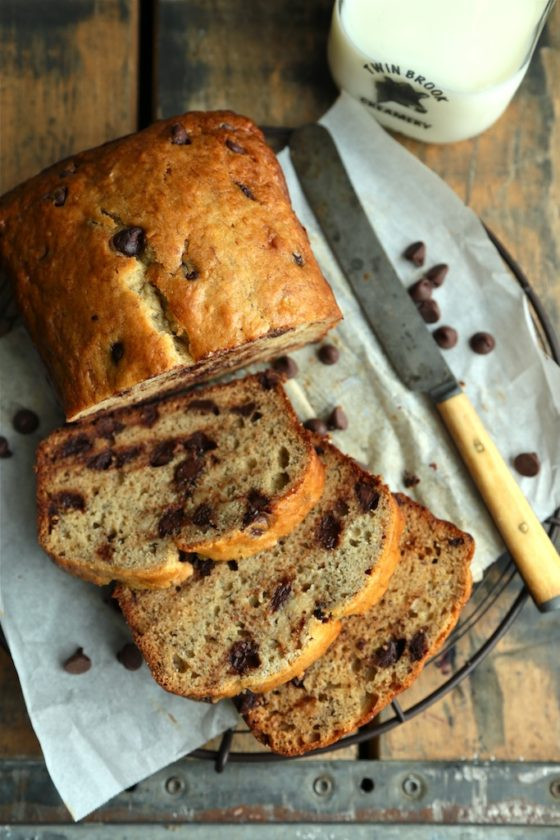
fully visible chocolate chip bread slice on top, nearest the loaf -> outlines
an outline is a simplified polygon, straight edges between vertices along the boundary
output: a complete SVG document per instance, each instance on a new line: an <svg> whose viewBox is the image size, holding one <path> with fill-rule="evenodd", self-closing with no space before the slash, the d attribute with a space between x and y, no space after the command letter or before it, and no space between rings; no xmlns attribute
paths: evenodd
<svg viewBox="0 0 560 840"><path fill-rule="evenodd" d="M189 552L255 554L319 498L324 469L272 371L66 426L37 454L39 540L68 571L165 587Z"/></svg>

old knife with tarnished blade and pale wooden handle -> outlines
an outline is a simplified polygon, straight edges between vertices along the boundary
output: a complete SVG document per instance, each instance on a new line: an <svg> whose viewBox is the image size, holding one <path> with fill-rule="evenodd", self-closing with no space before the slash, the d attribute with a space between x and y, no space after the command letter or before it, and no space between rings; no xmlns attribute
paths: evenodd
<svg viewBox="0 0 560 840"><path fill-rule="evenodd" d="M303 191L375 335L403 383L428 394L542 612L560 609L560 557L379 242L326 128L290 138Z"/></svg>

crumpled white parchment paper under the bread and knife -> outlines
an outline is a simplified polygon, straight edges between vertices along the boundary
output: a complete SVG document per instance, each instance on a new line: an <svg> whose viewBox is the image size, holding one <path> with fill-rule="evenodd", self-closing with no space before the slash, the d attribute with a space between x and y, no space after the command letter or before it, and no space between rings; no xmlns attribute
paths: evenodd
<svg viewBox="0 0 560 840"><path fill-rule="evenodd" d="M422 273L400 256L413 240L426 242L427 267L451 266L435 293L441 323L460 336L446 358L506 461L522 451L539 453L539 475L518 480L544 518L560 503L560 371L538 348L521 291L477 218L352 99L342 96L322 122L403 283ZM305 203L289 153L280 160L345 316L328 339L341 350L337 365L322 365L316 348L294 354L300 366L288 383L294 404L303 417L342 405L350 425L333 433L335 443L367 461L394 490L404 489L405 470L416 474L420 483L408 492L474 535L479 575L501 552L499 537L433 408L401 385L363 320ZM496 337L488 356L468 347L479 330ZM120 616L99 588L56 568L36 543L35 447L63 417L22 329L0 341L0 389L0 434L13 451L0 462L0 616L49 772L80 819L234 725L237 714L229 702L210 706L167 694L145 665L129 672L116 660L129 639ZM22 407L41 418L33 435L12 428ZM61 663L78 646L92 668L72 676Z"/></svg>

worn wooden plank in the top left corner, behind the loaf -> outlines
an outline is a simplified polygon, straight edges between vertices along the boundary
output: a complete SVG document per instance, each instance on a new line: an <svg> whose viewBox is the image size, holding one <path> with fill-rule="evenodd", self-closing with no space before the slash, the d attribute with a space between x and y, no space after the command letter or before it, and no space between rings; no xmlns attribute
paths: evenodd
<svg viewBox="0 0 560 840"><path fill-rule="evenodd" d="M3 0L0 193L136 128L139 0Z"/></svg>

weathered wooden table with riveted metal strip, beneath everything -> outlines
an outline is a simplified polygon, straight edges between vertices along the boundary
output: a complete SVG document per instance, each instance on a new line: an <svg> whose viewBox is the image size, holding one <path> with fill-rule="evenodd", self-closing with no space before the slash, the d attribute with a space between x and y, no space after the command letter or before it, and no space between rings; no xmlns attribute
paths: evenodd
<svg viewBox="0 0 560 840"><path fill-rule="evenodd" d="M331 6L331 0L3 0L0 193L61 157L185 110L231 108L267 127L315 120L337 95L325 58ZM521 89L496 125L447 146L398 138L498 235L558 332L559 82L557 5ZM487 621L470 631L472 650ZM336 838L365 837L366 823L384 823L384 837L408 836L394 825L401 822L415 823L409 831L420 838L482 837L476 828L482 823L485 837L558 836L550 827L560 824L559 643L560 616L543 617L527 602L468 679L359 754L236 764L219 776L209 763L183 762L100 809L79 836L158 838L165 825L189 822L199 823L189 829L193 836L247 837L249 825L228 825L222 834L209 823L255 821L259 837L283 836L282 821L314 823L308 837L325 836L326 823ZM480 764L487 760L502 763ZM443 791L455 809L441 807ZM64 827L68 819L46 778L13 665L0 649L0 823L11 824L10 837L40 836L45 823L57 824L57 837L78 836ZM120 827L102 825L113 822ZM441 823L457 825L440 834Z"/></svg>

